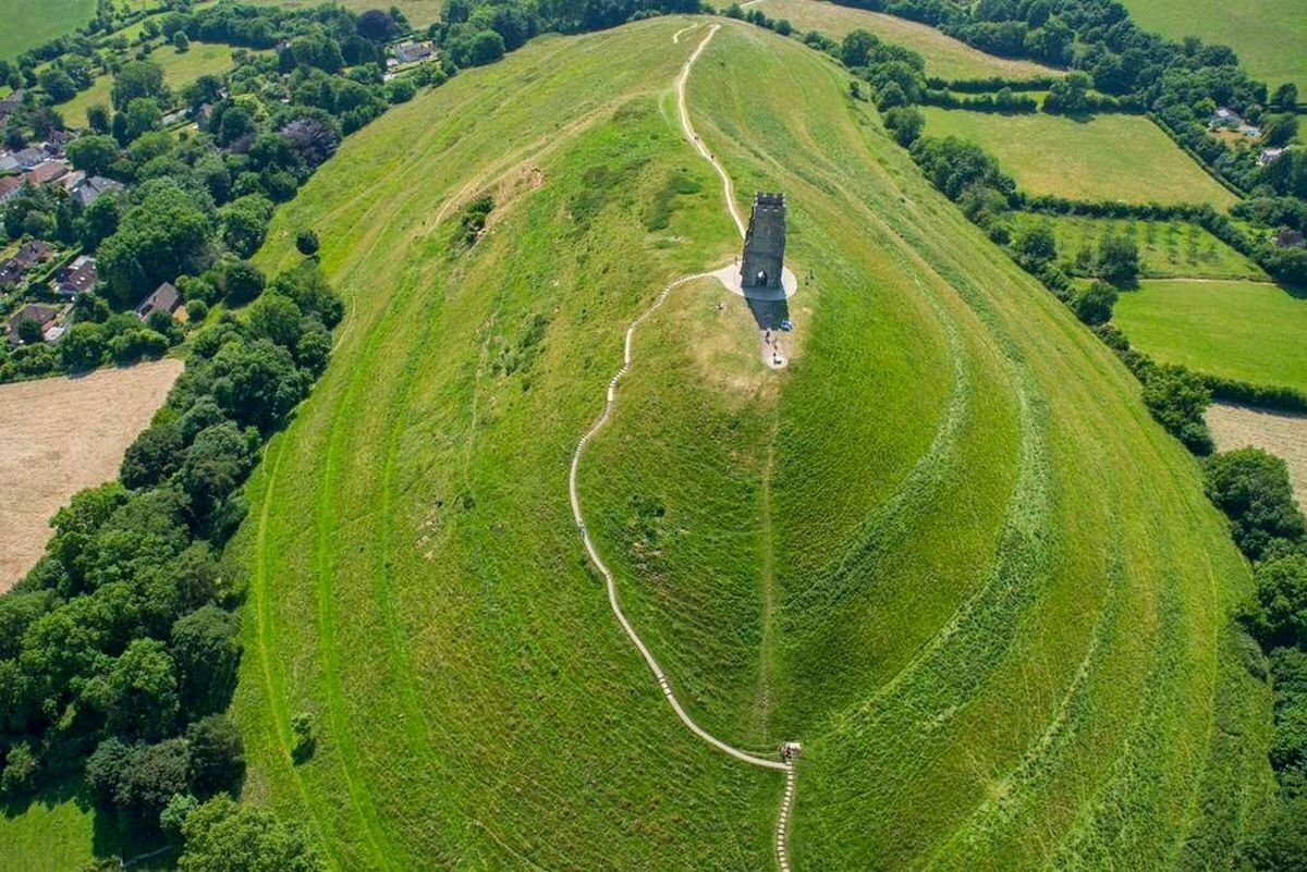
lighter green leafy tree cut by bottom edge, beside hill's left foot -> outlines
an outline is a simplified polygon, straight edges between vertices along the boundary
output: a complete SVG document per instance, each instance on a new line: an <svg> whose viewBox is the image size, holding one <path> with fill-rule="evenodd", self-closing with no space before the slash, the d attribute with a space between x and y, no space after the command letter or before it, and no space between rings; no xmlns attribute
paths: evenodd
<svg viewBox="0 0 1307 872"><path fill-rule="evenodd" d="M186 817L182 872L319 872L318 850L298 826L265 808L216 796Z"/></svg>

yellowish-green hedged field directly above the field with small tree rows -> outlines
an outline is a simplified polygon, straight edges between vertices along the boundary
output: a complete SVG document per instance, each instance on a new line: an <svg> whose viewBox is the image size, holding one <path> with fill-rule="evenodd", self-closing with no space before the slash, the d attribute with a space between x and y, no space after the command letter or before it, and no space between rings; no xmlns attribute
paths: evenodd
<svg viewBox="0 0 1307 872"><path fill-rule="evenodd" d="M1166 133L1137 115L996 115L923 107L927 136L984 146L1026 192L1072 200L1234 204Z"/></svg>

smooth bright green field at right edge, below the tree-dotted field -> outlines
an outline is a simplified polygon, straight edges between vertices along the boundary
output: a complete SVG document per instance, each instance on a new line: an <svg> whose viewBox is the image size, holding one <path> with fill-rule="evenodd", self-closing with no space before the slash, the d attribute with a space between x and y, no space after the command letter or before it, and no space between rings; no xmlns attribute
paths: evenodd
<svg viewBox="0 0 1307 872"><path fill-rule="evenodd" d="M1114 319L1159 360L1307 390L1307 300L1274 285L1144 281L1121 294Z"/></svg>

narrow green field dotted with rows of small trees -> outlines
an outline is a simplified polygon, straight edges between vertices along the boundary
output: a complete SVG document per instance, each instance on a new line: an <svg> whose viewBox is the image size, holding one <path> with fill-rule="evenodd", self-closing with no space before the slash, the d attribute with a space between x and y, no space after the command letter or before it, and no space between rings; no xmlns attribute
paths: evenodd
<svg viewBox="0 0 1307 872"><path fill-rule="evenodd" d="M1140 252L1140 266L1151 278L1248 278L1269 281L1251 260L1199 225L1184 221L1134 221L1082 215L1017 213L1013 231L1048 223L1057 238L1057 257L1074 264L1090 258L1104 236L1127 236Z"/></svg>

